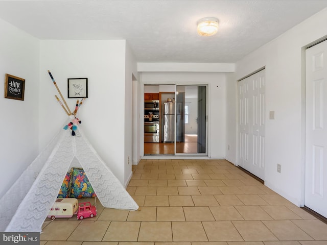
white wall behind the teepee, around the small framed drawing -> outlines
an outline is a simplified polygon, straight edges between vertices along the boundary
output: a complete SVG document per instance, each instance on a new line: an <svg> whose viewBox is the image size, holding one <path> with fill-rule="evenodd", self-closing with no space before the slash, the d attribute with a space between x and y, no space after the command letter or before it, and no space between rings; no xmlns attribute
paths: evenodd
<svg viewBox="0 0 327 245"><path fill-rule="evenodd" d="M80 127L122 184L125 184L125 47L125 40L42 40L39 69L40 150L62 129L67 118L54 97L58 93L47 70L52 72L71 110L76 99L67 99L67 78L88 78L88 99L77 114L82 121ZM128 79L131 80L131 75Z"/></svg>

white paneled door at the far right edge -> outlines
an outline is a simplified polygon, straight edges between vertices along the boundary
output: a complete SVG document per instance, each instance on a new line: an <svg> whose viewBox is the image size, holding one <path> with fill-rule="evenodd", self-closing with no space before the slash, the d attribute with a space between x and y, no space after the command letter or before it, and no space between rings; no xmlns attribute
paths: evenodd
<svg viewBox="0 0 327 245"><path fill-rule="evenodd" d="M306 50L305 205L327 217L327 41Z"/></svg>

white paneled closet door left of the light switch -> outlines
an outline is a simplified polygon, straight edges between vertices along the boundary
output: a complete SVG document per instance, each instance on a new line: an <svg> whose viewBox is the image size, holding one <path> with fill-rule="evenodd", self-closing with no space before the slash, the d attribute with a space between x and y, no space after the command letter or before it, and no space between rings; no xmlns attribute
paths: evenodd
<svg viewBox="0 0 327 245"><path fill-rule="evenodd" d="M265 179L265 69L239 81L239 166Z"/></svg>

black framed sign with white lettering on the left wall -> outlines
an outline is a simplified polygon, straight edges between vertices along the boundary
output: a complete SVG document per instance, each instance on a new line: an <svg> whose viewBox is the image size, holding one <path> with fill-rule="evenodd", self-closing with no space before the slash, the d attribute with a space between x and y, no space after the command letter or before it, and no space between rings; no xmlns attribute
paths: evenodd
<svg viewBox="0 0 327 245"><path fill-rule="evenodd" d="M5 98L24 101L25 79L6 74Z"/></svg>

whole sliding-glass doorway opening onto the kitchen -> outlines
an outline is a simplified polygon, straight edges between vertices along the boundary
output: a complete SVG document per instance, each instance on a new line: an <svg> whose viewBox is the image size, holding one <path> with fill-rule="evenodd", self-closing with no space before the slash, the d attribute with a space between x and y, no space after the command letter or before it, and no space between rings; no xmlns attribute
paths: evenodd
<svg viewBox="0 0 327 245"><path fill-rule="evenodd" d="M144 155L207 155L206 85L144 86Z"/></svg>

